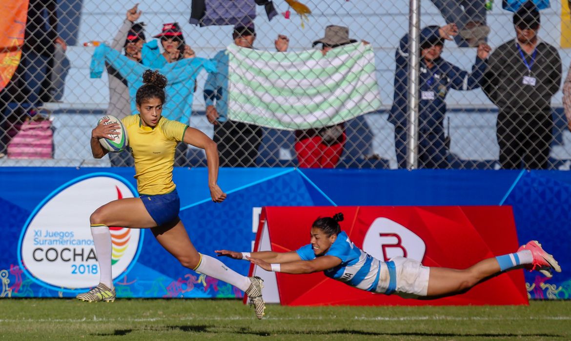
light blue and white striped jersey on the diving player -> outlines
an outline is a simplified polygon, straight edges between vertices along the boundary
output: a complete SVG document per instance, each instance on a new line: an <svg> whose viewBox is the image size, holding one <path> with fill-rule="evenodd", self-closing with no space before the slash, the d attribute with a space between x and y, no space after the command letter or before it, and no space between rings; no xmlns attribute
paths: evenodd
<svg viewBox="0 0 571 341"><path fill-rule="evenodd" d="M311 244L300 247L296 252L304 261L316 258ZM323 255L332 255L341 259L339 265L323 271L325 276L361 290L376 291L381 261L355 246L347 233L339 233L335 242Z"/></svg>

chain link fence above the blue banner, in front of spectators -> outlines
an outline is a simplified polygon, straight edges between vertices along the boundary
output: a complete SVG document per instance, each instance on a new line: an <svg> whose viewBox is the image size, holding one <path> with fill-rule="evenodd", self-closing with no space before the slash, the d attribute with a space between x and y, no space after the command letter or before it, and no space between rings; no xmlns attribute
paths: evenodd
<svg viewBox="0 0 571 341"><path fill-rule="evenodd" d="M224 167L406 167L409 2L301 2L15 2L27 23L11 12L25 41L0 47L22 50L0 97L0 165L132 165L93 159L90 132L136 113L153 68L170 82L163 116L212 137ZM421 2L419 168L570 168L569 4L532 3ZM175 165L206 160L179 144Z"/></svg>

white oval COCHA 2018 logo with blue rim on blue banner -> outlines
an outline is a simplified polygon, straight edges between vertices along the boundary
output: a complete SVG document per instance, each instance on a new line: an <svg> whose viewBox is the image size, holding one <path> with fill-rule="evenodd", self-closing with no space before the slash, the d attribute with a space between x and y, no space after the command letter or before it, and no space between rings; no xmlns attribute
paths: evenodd
<svg viewBox="0 0 571 341"><path fill-rule="evenodd" d="M56 290L88 288L99 282L99 265L89 217L99 206L135 197L136 190L112 173L75 178L54 190L30 214L19 240L22 269L39 285ZM143 231L109 226L112 273L135 263Z"/></svg>

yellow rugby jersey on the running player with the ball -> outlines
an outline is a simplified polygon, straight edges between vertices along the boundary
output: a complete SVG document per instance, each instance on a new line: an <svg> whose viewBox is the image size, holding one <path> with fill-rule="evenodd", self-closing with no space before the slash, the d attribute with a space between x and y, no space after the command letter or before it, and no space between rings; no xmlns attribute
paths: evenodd
<svg viewBox="0 0 571 341"><path fill-rule="evenodd" d="M139 194L156 195L172 192L172 167L176 143L182 141L188 125L160 117L154 128L144 127L139 115L122 120L129 147L135 159L135 178Z"/></svg>

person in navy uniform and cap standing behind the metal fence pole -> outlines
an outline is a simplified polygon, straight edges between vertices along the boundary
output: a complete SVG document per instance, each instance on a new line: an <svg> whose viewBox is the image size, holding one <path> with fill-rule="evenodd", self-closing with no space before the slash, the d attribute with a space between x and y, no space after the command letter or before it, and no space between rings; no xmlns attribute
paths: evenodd
<svg viewBox="0 0 571 341"><path fill-rule="evenodd" d="M478 46L472 72L462 70L442 58L444 40L458 34L455 24L427 26L420 32L419 76L419 168L447 168L448 148L444 132L445 98L448 91L480 87L490 47ZM408 108L408 34L396 49L395 95L388 120L395 125L395 152L399 168L407 167Z"/></svg>

